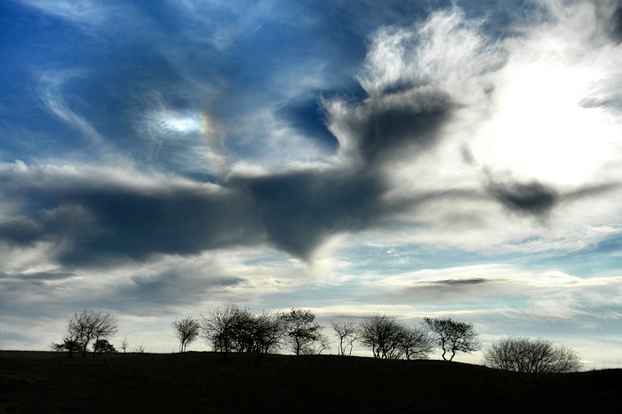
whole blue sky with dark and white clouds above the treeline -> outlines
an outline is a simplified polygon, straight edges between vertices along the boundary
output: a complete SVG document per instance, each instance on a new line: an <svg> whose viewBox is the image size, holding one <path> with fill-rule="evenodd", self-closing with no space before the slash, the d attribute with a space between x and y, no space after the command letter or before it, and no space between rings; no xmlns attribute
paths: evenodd
<svg viewBox="0 0 622 414"><path fill-rule="evenodd" d="M6 0L0 61L0 349L231 300L622 366L622 1Z"/></svg>

